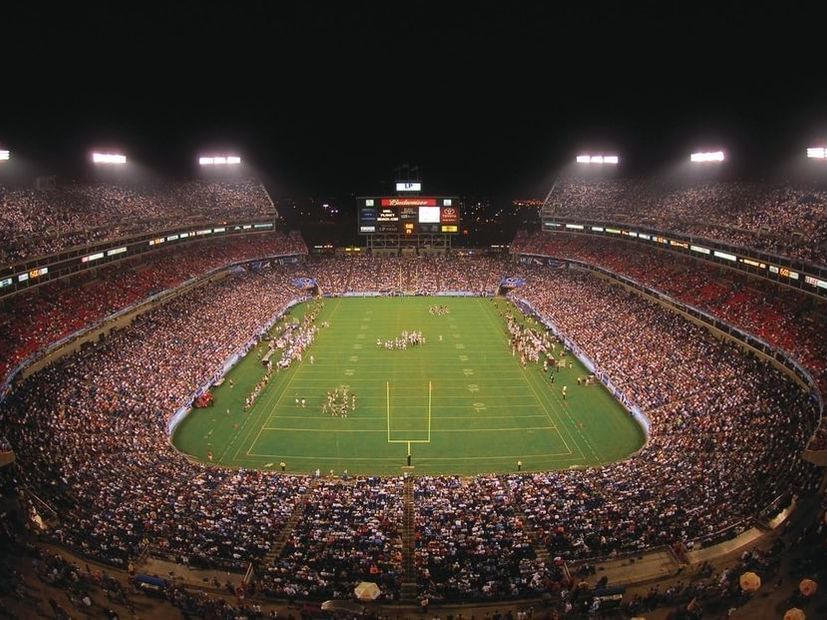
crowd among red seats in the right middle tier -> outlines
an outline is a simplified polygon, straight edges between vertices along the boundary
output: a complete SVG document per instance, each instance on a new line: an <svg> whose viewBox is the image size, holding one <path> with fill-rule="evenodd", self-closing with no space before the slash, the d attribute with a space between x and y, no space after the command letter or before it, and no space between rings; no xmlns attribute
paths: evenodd
<svg viewBox="0 0 827 620"><path fill-rule="evenodd" d="M809 295L793 290L782 293L771 283L623 240L597 242L586 235L521 234L512 250L603 267L720 317L787 351L827 394L827 314ZM827 448L827 424L821 426L811 447Z"/></svg>

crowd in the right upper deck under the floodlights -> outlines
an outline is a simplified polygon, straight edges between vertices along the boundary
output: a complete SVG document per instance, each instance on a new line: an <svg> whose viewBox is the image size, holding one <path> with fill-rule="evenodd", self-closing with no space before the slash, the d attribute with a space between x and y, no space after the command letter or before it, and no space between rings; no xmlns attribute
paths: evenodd
<svg viewBox="0 0 827 620"><path fill-rule="evenodd" d="M788 183L561 179L550 215L647 226L827 264L827 190Z"/></svg>

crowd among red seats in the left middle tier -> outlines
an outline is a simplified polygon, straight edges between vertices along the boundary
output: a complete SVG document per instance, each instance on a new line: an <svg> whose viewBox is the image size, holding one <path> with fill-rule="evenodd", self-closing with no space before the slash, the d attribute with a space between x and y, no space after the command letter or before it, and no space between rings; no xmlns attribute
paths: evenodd
<svg viewBox="0 0 827 620"><path fill-rule="evenodd" d="M211 239L165 248L71 282L55 281L0 302L0 382L22 360L77 330L190 278L267 256L306 254L300 237L281 233Z"/></svg>

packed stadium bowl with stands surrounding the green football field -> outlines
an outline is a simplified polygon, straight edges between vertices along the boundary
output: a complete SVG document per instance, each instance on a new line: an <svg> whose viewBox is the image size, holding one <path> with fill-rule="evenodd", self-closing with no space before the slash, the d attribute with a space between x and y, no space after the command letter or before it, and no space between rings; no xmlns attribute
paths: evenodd
<svg viewBox="0 0 827 620"><path fill-rule="evenodd" d="M759 235L756 195L813 230ZM822 483L810 188L558 183L499 257L387 233L311 258L254 180L3 201L83 222L7 227L2 278L4 480L81 557L228 571L274 599L362 581L388 602L531 599L601 559L690 564ZM700 231L678 219L692 201L713 205Z"/></svg>

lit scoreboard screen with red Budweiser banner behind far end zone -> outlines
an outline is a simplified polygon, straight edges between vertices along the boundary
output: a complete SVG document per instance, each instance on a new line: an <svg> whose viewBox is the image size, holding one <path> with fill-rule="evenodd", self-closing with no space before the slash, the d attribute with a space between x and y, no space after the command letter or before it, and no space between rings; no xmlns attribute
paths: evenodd
<svg viewBox="0 0 827 620"><path fill-rule="evenodd" d="M357 202L362 235L459 232L459 200L454 196L369 196Z"/></svg>

